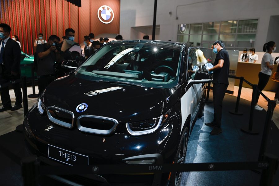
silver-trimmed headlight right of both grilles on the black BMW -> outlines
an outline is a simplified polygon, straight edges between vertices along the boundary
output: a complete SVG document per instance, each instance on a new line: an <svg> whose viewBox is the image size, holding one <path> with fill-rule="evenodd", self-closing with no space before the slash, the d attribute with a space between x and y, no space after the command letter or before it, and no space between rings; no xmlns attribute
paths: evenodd
<svg viewBox="0 0 279 186"><path fill-rule="evenodd" d="M141 122L126 123L127 130L131 135L144 135L156 131L163 121L164 115ZM166 116L168 117L168 116ZM164 119L165 121L165 119Z"/></svg>

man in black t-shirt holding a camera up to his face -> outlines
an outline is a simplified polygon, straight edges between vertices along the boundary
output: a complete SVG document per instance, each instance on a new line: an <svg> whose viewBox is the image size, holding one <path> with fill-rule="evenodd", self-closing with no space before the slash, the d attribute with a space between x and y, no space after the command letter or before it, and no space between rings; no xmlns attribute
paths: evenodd
<svg viewBox="0 0 279 186"><path fill-rule="evenodd" d="M55 62L60 62L60 54L56 48L60 38L56 35L51 35L47 43L37 45L37 76L39 95L46 89L55 79L54 65Z"/></svg>

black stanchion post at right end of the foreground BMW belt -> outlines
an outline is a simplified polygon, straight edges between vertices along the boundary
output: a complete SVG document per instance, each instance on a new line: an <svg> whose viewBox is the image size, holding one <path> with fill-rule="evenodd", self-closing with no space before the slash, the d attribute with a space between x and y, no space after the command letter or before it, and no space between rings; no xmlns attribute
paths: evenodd
<svg viewBox="0 0 279 186"><path fill-rule="evenodd" d="M272 185L275 171L278 168L278 157L264 153L264 161L268 162L268 168L262 171L259 185Z"/></svg>

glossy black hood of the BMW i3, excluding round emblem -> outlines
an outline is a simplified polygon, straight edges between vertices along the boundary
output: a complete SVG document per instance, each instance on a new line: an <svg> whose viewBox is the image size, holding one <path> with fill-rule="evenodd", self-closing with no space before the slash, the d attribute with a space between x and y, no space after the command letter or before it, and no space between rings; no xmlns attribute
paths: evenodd
<svg viewBox="0 0 279 186"><path fill-rule="evenodd" d="M178 87L147 88L109 82L94 82L68 76L52 82L43 95L47 106L81 115L111 117L118 122L135 122L165 114L178 100ZM79 104L88 108L77 112Z"/></svg>

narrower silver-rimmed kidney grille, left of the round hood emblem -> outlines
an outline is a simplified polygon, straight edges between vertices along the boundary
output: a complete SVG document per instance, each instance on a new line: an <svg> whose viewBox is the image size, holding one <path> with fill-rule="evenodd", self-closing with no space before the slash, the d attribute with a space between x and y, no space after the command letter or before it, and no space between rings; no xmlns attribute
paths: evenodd
<svg viewBox="0 0 279 186"><path fill-rule="evenodd" d="M47 116L51 122L57 125L72 128L74 125L74 113L54 106L47 107Z"/></svg>

